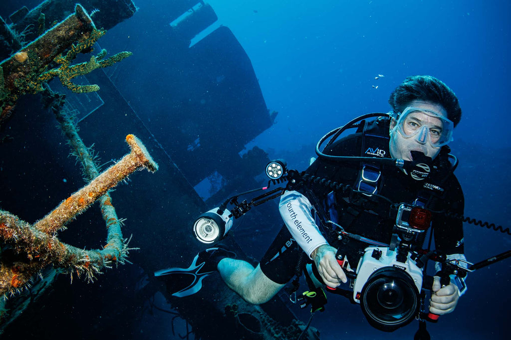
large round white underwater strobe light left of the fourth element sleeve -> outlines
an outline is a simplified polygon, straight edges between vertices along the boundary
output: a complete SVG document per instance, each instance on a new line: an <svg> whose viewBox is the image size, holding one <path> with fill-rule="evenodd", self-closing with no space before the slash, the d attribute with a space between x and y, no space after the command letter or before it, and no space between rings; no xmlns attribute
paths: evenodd
<svg viewBox="0 0 511 340"><path fill-rule="evenodd" d="M233 216L229 210L211 209L200 215L193 225L195 237L205 244L222 239L233 226Z"/></svg>

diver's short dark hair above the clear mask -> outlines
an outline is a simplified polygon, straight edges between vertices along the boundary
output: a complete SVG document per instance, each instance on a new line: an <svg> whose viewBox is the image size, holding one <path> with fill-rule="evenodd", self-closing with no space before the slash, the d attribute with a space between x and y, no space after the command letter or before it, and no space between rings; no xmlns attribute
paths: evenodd
<svg viewBox="0 0 511 340"><path fill-rule="evenodd" d="M452 120L454 127L461 119L461 108L453 90L444 82L431 76L413 76L406 78L390 94L388 103L394 113L403 112L410 102L421 100L442 105L447 111L447 118Z"/></svg>

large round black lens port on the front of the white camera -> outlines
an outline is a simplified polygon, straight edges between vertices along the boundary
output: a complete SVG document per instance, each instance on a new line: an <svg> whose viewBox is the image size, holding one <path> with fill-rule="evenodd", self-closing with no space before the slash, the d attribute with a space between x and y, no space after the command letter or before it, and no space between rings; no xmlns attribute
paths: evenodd
<svg viewBox="0 0 511 340"><path fill-rule="evenodd" d="M367 321L383 331L396 330L412 321L419 301L419 291L410 275L390 266L369 276L360 298Z"/></svg>

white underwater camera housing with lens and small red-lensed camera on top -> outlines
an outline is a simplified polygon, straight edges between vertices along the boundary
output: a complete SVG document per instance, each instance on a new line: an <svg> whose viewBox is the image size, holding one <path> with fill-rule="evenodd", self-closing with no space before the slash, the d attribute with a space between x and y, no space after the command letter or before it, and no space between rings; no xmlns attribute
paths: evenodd
<svg viewBox="0 0 511 340"><path fill-rule="evenodd" d="M422 269L412 249L431 224L431 212L401 204L389 247L367 247L357 266L353 300L369 324L383 331L407 325L419 313Z"/></svg>

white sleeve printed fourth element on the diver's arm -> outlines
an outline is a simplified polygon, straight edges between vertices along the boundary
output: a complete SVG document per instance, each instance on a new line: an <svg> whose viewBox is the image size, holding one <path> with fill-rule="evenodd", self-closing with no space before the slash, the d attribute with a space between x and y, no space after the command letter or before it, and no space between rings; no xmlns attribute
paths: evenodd
<svg viewBox="0 0 511 340"><path fill-rule="evenodd" d="M289 232L309 257L317 247L328 245L314 222L311 209L312 205L307 197L297 191L286 191L278 204L278 210Z"/></svg>

